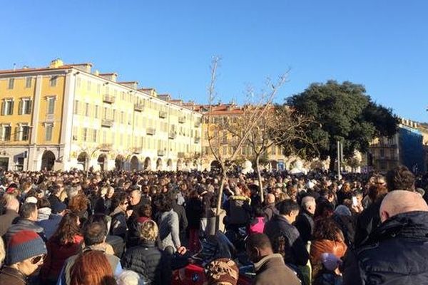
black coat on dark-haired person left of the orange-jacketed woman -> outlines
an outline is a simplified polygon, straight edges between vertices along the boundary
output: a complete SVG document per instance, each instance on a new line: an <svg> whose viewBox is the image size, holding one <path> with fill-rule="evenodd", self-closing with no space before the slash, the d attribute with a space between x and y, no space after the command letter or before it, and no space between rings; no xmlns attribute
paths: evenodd
<svg viewBox="0 0 428 285"><path fill-rule="evenodd" d="M272 243L273 252L282 254L285 263L302 266L307 264L309 253L305 243L296 227L285 217L275 215L265 224L264 232Z"/></svg>

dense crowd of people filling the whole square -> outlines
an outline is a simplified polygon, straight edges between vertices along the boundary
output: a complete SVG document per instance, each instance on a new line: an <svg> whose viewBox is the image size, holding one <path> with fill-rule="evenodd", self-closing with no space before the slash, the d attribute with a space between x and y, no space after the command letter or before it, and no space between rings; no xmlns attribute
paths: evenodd
<svg viewBox="0 0 428 285"><path fill-rule="evenodd" d="M262 177L1 170L0 284L190 284L189 262L209 285L428 284L427 177Z"/></svg>

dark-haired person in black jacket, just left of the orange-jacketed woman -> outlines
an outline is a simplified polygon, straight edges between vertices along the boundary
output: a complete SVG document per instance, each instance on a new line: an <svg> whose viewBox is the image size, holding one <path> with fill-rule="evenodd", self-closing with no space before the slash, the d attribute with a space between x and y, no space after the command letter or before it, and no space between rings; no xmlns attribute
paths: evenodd
<svg viewBox="0 0 428 285"><path fill-rule="evenodd" d="M282 254L285 263L293 268L305 266L309 253L299 231L292 225L299 214L299 205L292 200L285 200L277 204L277 209L280 214L267 222L264 230L272 243L273 252Z"/></svg>

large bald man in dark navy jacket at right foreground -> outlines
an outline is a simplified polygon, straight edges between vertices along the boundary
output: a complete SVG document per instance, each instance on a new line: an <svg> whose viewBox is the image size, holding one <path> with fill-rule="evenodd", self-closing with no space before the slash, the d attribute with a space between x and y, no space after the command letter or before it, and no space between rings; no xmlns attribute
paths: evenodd
<svg viewBox="0 0 428 285"><path fill-rule="evenodd" d="M384 197L381 224L345 259L344 284L428 284L428 205L417 192Z"/></svg>

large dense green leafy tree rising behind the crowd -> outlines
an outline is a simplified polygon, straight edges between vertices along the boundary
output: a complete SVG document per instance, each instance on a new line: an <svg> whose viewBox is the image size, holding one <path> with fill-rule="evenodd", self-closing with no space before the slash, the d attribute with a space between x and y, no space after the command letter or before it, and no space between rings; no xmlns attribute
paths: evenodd
<svg viewBox="0 0 428 285"><path fill-rule="evenodd" d="M286 103L317 121L307 130L317 152L302 141L295 147L305 149L305 158L330 157L330 170L337 158L337 140L344 144L345 157L351 157L355 150L367 152L373 138L397 133L397 116L391 109L374 103L360 84L313 83L302 93L287 98Z"/></svg>

